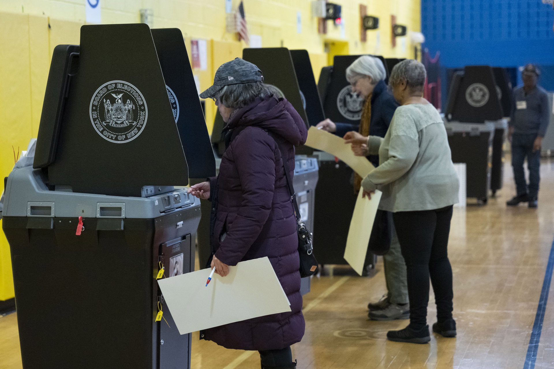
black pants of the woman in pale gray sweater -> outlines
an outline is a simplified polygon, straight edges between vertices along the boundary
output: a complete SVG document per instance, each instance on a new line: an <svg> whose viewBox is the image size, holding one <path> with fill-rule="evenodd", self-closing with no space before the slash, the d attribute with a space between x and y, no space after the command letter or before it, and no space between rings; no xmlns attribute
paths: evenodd
<svg viewBox="0 0 554 369"><path fill-rule="evenodd" d="M410 326L421 329L427 325L429 277L435 292L438 321L452 318L454 293L447 252L452 206L396 212L393 219L406 261Z"/></svg>

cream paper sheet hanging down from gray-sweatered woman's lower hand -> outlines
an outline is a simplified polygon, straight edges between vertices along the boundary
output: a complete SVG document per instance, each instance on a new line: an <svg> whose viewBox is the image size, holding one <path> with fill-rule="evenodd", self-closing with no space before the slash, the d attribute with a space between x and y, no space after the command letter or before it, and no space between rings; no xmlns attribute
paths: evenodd
<svg viewBox="0 0 554 369"><path fill-rule="evenodd" d="M362 275L363 264L366 261L367 244L370 242L371 230L377 207L381 201L382 192L377 190L371 195L371 200L362 198L363 191L360 190L352 221L350 222L350 230L346 239L345 260L350 264L356 273Z"/></svg>

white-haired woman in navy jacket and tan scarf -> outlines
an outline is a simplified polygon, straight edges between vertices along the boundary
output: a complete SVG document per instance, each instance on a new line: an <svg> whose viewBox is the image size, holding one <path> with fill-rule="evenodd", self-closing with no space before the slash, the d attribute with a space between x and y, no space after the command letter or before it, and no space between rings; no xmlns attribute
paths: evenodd
<svg viewBox="0 0 554 369"><path fill-rule="evenodd" d="M378 136L384 137L391 124L394 111L398 103L394 100L392 93L388 90L384 82L386 72L383 63L375 56L363 55L356 59L346 69L346 79L352 85L352 91L358 93L365 99L363 105L362 117L359 126L350 123L335 123L331 119L317 124L317 127L325 129L327 132L333 132L337 136L350 137L349 131L356 131L361 137ZM354 145L353 149L358 154L363 152L361 145ZM379 157L377 155L368 156L368 160L377 167ZM359 191L362 178L355 176L354 189ZM384 214L382 225L391 228L392 237L390 238L390 248L383 255L384 275L387 286L387 293L377 303L370 303L367 308L370 310L368 317L372 320L394 320L408 319L408 287L406 285L406 264L400 252L400 244L394 232L394 225L390 214ZM383 233L383 232L379 232ZM388 238L388 237L387 237ZM373 240L370 241L370 243Z"/></svg>

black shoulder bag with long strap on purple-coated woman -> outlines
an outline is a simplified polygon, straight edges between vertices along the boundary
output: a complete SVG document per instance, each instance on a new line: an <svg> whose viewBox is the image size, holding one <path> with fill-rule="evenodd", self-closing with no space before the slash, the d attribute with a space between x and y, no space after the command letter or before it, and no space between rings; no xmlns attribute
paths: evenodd
<svg viewBox="0 0 554 369"><path fill-rule="evenodd" d="M264 129L265 131L265 129ZM265 131L269 134L273 139L271 133ZM277 143L277 141L275 141ZM296 216L296 222L298 225L297 232L298 232L298 254L300 255L300 277L310 277L317 273L319 269L319 264L317 263L317 260L314 256L314 248L312 245L312 239L311 239L311 232L306 228L306 225L300 219L300 210L298 209L298 203L296 202L296 194L294 192L293 187L293 179L290 178L290 171L289 166L286 164L285 158L283 158L283 154L281 153L281 150L279 149L279 144L277 144L277 149L279 150L279 154L281 155L281 160L283 161L283 169L285 170L285 178L286 178L286 184L289 187L289 194L291 200L293 200L293 207L294 207L294 214Z"/></svg>

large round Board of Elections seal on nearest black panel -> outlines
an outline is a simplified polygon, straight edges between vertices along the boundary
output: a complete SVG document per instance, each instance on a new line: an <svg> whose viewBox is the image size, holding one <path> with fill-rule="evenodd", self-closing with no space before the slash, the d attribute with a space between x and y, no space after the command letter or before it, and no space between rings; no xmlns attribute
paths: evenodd
<svg viewBox="0 0 554 369"><path fill-rule="evenodd" d="M89 114L100 136L110 142L126 143L144 130L148 107L135 86L125 81L110 81L94 92Z"/></svg>

